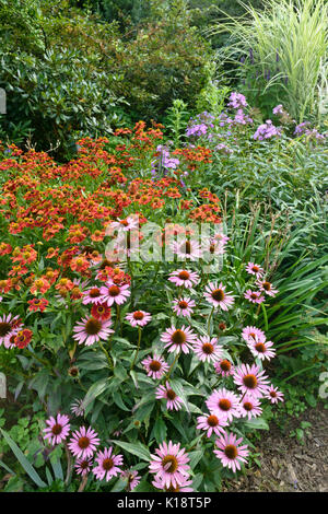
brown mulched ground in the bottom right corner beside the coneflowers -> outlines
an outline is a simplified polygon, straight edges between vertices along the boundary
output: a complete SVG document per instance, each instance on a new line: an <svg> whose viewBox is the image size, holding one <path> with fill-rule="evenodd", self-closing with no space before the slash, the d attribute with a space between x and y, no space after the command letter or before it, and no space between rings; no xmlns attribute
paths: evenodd
<svg viewBox="0 0 328 514"><path fill-rule="evenodd" d="M290 434L301 421L306 429L302 443ZM328 491L328 409L318 406L300 418L290 420L283 434L270 423L270 432L261 432L257 443L261 467L230 481L225 491L238 492L327 492Z"/></svg>

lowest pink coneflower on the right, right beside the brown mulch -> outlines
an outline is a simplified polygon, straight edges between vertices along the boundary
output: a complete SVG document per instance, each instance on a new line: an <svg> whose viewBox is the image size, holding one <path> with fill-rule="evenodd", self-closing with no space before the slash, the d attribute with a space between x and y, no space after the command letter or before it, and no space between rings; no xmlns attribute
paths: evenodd
<svg viewBox="0 0 328 514"><path fill-rule="evenodd" d="M247 444L239 446L243 437L237 439L235 434L224 434L215 441L219 449L214 449L214 454L220 458L223 467L229 467L234 472L241 469L241 463L246 463L245 457L248 456Z"/></svg>

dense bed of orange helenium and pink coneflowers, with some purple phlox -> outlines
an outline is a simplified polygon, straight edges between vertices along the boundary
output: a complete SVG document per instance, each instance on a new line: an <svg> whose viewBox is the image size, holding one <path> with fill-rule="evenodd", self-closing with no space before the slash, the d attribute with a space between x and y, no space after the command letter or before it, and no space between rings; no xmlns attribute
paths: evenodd
<svg viewBox="0 0 328 514"><path fill-rule="evenodd" d="M241 126L279 137L245 102L231 96L219 139L211 115L191 121L180 149L143 122L61 165L1 147L1 363L44 412L42 474L50 460L80 490L213 491L256 458L251 433L283 401L266 334L279 288L269 260L234 254L201 178Z"/></svg>

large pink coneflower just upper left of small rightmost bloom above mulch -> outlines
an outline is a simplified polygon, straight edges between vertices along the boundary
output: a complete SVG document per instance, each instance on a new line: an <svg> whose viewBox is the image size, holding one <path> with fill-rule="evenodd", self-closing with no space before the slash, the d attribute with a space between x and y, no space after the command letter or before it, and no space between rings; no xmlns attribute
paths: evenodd
<svg viewBox="0 0 328 514"><path fill-rule="evenodd" d="M261 398L268 390L268 381L263 371L253 364L242 364L236 367L234 383L238 386L242 395Z"/></svg>

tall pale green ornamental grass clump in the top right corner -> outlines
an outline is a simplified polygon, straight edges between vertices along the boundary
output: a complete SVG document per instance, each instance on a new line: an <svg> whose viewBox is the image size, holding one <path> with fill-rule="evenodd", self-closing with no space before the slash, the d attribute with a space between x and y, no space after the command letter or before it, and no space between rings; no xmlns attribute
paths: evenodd
<svg viewBox="0 0 328 514"><path fill-rule="evenodd" d="M262 11L245 5L249 17L230 17L213 32L231 33L231 45L224 54L235 65L241 58L245 60L239 65L244 90L250 90L255 100L260 95L272 98L258 106L272 107L274 98L276 103L284 103L293 118L303 121L312 116L318 120L318 86L327 63L327 3L266 0L263 4Z"/></svg>

